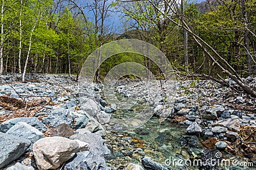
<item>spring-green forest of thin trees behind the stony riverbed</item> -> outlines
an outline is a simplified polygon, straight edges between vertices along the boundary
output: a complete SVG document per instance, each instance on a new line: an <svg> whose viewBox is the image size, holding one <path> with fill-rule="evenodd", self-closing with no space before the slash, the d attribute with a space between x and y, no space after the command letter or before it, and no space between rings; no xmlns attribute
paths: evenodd
<svg viewBox="0 0 256 170"><path fill-rule="evenodd" d="M212 52L202 44L225 69L232 67L239 76L255 74L255 1L183 3L182 7L170 0L3 0L0 73L77 74L86 57L100 45L115 39L134 38L161 49L179 73L210 76L218 73L225 77L193 39L195 34L214 49ZM115 22L122 22L122 33L111 20L116 13L120 20ZM184 32L182 21L193 34ZM118 60L109 60L100 73L132 58L126 54ZM154 72L156 68L147 62L144 64Z"/></svg>

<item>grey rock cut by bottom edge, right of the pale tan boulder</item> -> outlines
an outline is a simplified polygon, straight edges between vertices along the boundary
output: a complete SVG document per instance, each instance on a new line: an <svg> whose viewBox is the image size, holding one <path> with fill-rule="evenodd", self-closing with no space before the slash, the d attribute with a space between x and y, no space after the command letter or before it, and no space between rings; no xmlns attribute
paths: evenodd
<svg viewBox="0 0 256 170"><path fill-rule="evenodd" d="M65 170L87 170L87 169L100 169L108 170L106 162L103 157L97 153L90 151L77 152L76 155L68 160L64 167Z"/></svg>

